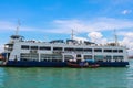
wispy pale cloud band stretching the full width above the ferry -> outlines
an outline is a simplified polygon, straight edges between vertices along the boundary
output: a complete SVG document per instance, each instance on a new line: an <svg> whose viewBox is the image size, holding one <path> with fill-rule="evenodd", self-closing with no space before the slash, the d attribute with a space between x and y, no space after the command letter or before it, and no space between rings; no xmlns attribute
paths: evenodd
<svg viewBox="0 0 133 88"><path fill-rule="evenodd" d="M75 30L79 33L94 32L94 31L106 31L106 30L122 30L132 29L133 21L119 20L112 18L98 18L94 20L83 21L83 20L54 20L51 28L37 29L33 26L20 26L20 31L35 31L35 32L50 32L50 33L71 33L71 30ZM17 24L0 21L0 30L9 31L16 30ZM54 29L53 29L54 28Z"/></svg>

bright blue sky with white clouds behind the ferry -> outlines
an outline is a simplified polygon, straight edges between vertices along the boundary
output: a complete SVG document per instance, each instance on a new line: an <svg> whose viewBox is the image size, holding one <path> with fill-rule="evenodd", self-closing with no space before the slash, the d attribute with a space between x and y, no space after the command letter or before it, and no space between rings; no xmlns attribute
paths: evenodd
<svg viewBox="0 0 133 88"><path fill-rule="evenodd" d="M133 0L0 0L0 52L16 34L25 40L114 42L133 55ZM115 32L114 32L115 31Z"/></svg>

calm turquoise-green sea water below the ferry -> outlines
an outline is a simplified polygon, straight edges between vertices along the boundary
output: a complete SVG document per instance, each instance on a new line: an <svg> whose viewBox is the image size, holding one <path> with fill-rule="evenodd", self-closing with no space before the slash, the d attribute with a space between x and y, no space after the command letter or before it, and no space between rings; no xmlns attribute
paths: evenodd
<svg viewBox="0 0 133 88"><path fill-rule="evenodd" d="M0 88L133 88L130 67L0 67Z"/></svg>

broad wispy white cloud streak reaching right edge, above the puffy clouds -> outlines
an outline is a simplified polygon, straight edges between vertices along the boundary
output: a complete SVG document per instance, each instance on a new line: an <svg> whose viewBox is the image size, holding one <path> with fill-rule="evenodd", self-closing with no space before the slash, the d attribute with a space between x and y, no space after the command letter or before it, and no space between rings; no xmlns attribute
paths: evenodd
<svg viewBox="0 0 133 88"><path fill-rule="evenodd" d="M106 30L122 30L133 28L133 21L117 20L111 18L100 18L95 20L81 21L81 20L55 20L53 21L60 32L70 32L72 29L78 32L93 32ZM62 30L61 30L62 29Z"/></svg>

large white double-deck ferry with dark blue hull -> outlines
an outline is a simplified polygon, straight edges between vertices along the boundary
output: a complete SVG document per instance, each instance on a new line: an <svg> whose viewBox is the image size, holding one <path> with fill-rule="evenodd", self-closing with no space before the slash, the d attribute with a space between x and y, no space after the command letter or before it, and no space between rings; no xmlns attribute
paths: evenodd
<svg viewBox="0 0 133 88"><path fill-rule="evenodd" d="M2 66L14 67L66 67L68 62L99 64L101 67L125 67L129 65L125 46L115 43L98 45L75 40L51 42L24 41L11 35L1 53Z"/></svg>

